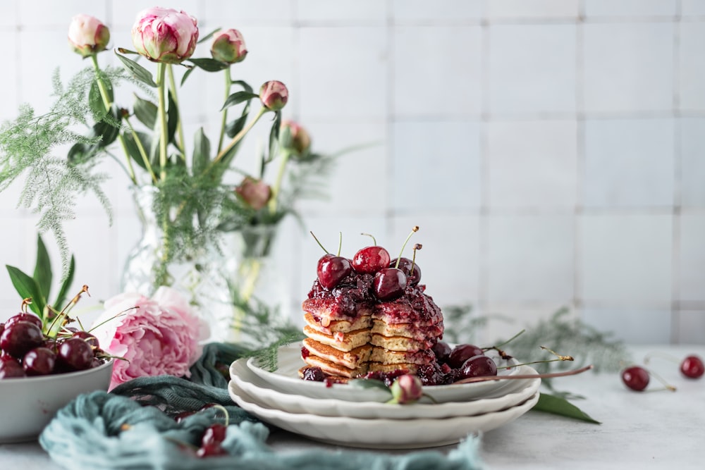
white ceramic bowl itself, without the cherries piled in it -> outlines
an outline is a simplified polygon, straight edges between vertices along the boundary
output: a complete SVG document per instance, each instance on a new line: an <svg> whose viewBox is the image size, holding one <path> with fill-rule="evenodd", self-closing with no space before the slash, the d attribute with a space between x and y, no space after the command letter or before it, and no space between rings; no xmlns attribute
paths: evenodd
<svg viewBox="0 0 705 470"><path fill-rule="evenodd" d="M0 380L0 444L35 440L75 397L108 390L113 362L87 371Z"/></svg>

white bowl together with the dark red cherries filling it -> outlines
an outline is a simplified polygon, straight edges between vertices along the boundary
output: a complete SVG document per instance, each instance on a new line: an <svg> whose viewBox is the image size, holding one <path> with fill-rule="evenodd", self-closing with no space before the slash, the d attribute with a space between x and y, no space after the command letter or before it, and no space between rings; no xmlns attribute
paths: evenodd
<svg viewBox="0 0 705 470"><path fill-rule="evenodd" d="M0 323L0 444L35 440L73 398L110 385L113 360L93 335L46 330L26 311Z"/></svg>

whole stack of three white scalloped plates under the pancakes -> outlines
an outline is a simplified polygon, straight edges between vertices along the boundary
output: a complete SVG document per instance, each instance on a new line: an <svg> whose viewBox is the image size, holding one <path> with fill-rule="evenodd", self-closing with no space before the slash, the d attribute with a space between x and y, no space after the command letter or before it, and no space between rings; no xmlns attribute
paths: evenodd
<svg viewBox="0 0 705 470"><path fill-rule="evenodd" d="M512 365L494 359L498 366ZM245 411L286 431L336 445L410 449L457 443L510 423L536 404L541 385L540 378L435 385L424 387L435 402L386 404L391 395L385 390L302 381L303 365L300 345L278 350L274 372L255 359L238 359L230 368L228 390ZM535 373L516 366L498 375Z"/></svg>

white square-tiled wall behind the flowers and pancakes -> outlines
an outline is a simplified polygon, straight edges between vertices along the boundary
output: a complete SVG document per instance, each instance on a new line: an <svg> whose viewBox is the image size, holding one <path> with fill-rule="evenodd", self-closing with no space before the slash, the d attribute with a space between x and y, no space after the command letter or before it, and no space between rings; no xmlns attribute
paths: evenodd
<svg viewBox="0 0 705 470"><path fill-rule="evenodd" d="M86 65L66 27L92 13L114 45L142 0L0 3L0 118L47 105L51 71ZM561 306L631 342L705 343L705 1L703 0L184 0L214 27L243 31L250 56L233 68L255 87L279 79L286 117L318 151L342 157L327 201L301 204L279 262L296 311L320 250L343 232L352 255L374 233L396 252L412 225L436 302L490 315L479 339L506 337ZM207 56L207 45L197 56ZM41 51L43 60L38 60ZM112 54L102 63L116 63ZM121 90L129 97L129 90ZM218 75L181 94L190 136L216 133ZM238 161L254 168L269 123ZM127 180L106 186L114 225L90 198L67 225L77 284L90 302L114 295L140 237ZM0 195L1 261L27 271L35 216ZM56 247L47 237L52 254ZM396 253L395 253L396 254ZM0 300L17 304L6 276ZM15 303L13 303L15 302ZM9 315L14 309L6 314ZM298 319L298 314L295 314Z"/></svg>

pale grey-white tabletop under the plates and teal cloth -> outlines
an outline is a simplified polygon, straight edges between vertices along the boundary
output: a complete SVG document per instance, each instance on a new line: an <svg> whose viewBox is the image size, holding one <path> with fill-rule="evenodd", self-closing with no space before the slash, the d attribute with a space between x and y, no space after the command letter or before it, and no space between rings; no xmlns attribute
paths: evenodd
<svg viewBox="0 0 705 470"><path fill-rule="evenodd" d="M668 352L678 357L698 354L705 346L631 347L634 359L646 352ZM602 424L590 424L541 412L529 412L502 428L482 436L481 455L489 469L705 469L705 376L684 378L678 364L653 359L649 365L677 392L633 392L618 373L584 373L554 379L558 390L586 397L576 400L584 412ZM649 388L661 388L651 380ZM1 419L1 417L0 417ZM273 431L268 443L281 452L316 448L340 449ZM455 446L439 447L447 452ZM387 452L367 451L360 452ZM402 453L409 451L398 451ZM37 443L0 445L0 469L54 470Z"/></svg>

